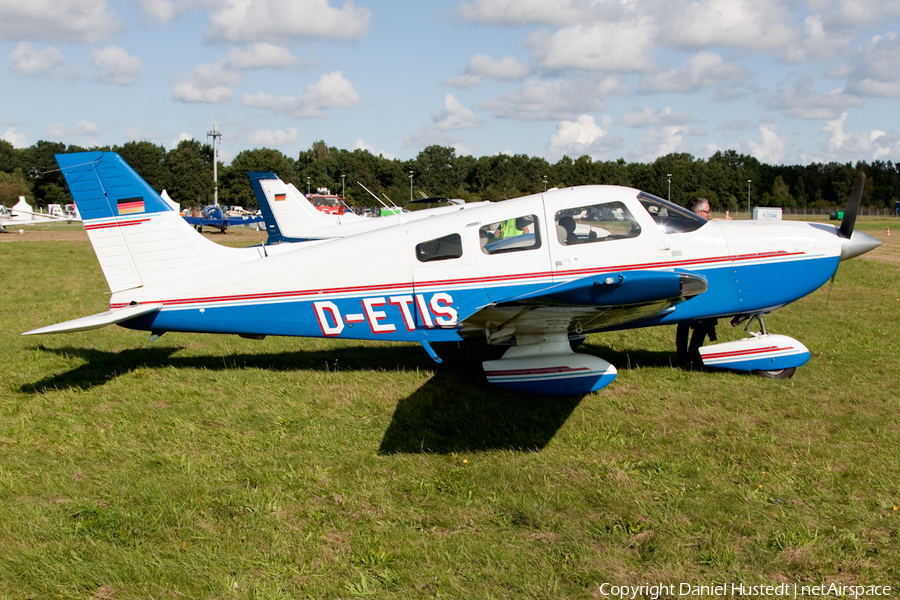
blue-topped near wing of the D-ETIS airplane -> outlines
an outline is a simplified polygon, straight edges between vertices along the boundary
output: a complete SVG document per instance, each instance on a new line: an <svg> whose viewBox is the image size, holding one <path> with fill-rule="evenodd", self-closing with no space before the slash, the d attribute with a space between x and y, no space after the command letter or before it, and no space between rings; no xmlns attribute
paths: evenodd
<svg viewBox="0 0 900 600"><path fill-rule="evenodd" d="M512 331L596 331L661 316L706 289L706 278L688 272L602 273L482 306L460 323L492 337Z"/></svg>

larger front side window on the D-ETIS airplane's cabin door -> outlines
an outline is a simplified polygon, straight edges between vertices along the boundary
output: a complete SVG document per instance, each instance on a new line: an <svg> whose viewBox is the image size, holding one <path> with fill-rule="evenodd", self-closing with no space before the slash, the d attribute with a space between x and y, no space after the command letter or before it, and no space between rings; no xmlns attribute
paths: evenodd
<svg viewBox="0 0 900 600"><path fill-rule="evenodd" d="M621 202L567 208L554 215L563 246L624 240L641 234L641 226Z"/></svg>

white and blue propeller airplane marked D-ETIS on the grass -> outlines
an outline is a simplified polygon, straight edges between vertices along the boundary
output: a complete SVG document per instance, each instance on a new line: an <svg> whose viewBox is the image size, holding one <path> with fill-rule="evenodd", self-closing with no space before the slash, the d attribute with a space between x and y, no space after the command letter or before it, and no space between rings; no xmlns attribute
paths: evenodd
<svg viewBox="0 0 900 600"><path fill-rule="evenodd" d="M636 189L590 185L435 209L343 237L228 248L172 210L121 157L57 155L112 296L109 310L29 331L117 323L169 331L508 348L483 363L518 391L584 394L616 369L574 352L591 332L707 318L759 319L813 292L880 242L839 227L707 221ZM778 373L809 360L759 332L701 348L706 365Z"/></svg>

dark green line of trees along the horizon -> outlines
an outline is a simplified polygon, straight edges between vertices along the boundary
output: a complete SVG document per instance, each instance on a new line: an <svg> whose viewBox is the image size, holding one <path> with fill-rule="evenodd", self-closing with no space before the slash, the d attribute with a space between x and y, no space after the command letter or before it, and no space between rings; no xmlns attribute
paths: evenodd
<svg viewBox="0 0 900 600"><path fill-rule="evenodd" d="M213 201L213 149L196 140L182 141L172 150L147 141L102 148L39 141L16 149L0 140L0 202L10 206L18 196L27 197L35 207L71 202L54 155L85 150L118 152L155 190L165 189L182 205L204 206ZM457 156L453 148L435 145L402 161L318 141L295 159L269 148L245 150L230 165L219 163L217 171L219 202L245 208L256 206L248 171L273 171L301 192L320 187L345 192L353 206L377 205L359 182L400 206L410 196L498 201L545 188L612 184L642 189L682 205L703 197L719 210L746 209L748 204L834 209L846 204L860 172L867 176L864 206L893 208L900 200L900 164L891 161L767 165L734 150L716 152L708 159L673 153L652 163L628 163L564 156L551 164L524 154Z"/></svg>

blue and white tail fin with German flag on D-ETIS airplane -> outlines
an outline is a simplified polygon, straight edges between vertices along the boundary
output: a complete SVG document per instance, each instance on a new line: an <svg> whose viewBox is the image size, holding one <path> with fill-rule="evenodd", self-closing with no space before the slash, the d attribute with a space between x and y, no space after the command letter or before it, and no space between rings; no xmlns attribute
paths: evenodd
<svg viewBox="0 0 900 600"><path fill-rule="evenodd" d="M235 249L194 231L114 152L57 154L112 292L229 264Z"/></svg>

